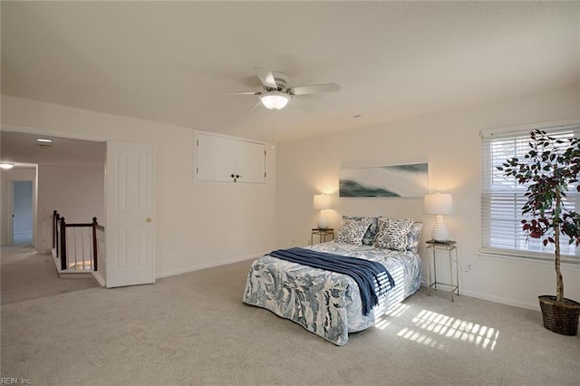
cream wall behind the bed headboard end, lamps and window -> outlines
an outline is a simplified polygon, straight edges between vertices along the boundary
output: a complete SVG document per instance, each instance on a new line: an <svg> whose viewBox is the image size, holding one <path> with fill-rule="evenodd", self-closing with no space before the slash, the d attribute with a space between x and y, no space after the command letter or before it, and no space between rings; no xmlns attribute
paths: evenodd
<svg viewBox="0 0 580 386"><path fill-rule="evenodd" d="M385 122L331 135L278 145L276 169L276 244L310 241L316 224L313 195L333 194L331 226L342 215L412 217L425 223L420 198L338 198L342 165L380 166L428 161L431 192L453 194L455 213L446 216L451 238L458 241L459 262L471 267L460 275L460 291L483 299L536 309L539 294L555 294L554 267L478 255L480 246L480 138L489 128L578 117L578 87L526 95L506 101L441 111L403 121ZM421 254L425 246L421 242ZM423 259L425 268L425 259ZM424 270L423 270L424 272ZM580 301L580 267L565 265L565 296ZM439 277L438 277L439 278Z"/></svg>

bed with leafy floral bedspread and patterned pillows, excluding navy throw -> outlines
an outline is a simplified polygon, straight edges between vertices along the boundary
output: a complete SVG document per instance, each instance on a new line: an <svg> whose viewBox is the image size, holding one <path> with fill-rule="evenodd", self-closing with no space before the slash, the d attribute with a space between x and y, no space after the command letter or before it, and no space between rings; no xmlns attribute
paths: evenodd
<svg viewBox="0 0 580 386"><path fill-rule="evenodd" d="M257 258L250 266L243 302L265 308L342 346L348 342L348 333L371 327L379 316L419 289L421 230L422 224L411 219L343 217L336 239L305 247L386 267L394 286L366 315L353 277L269 255Z"/></svg>

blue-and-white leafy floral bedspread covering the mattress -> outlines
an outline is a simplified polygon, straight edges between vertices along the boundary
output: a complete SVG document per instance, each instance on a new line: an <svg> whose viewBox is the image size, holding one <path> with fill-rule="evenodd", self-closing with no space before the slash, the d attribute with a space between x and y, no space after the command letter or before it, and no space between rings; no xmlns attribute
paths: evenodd
<svg viewBox="0 0 580 386"><path fill-rule="evenodd" d="M334 241L308 248L377 261L389 270L395 286L381 304L364 316L361 294L352 277L266 255L256 259L249 269L244 303L266 308L342 346L348 342L348 333L369 328L375 317L391 305L401 303L420 287L420 258L411 251L397 252Z"/></svg>

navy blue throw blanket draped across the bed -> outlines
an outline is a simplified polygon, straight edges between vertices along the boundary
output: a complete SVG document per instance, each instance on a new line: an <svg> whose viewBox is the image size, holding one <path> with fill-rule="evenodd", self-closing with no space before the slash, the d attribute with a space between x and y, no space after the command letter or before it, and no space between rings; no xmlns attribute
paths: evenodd
<svg viewBox="0 0 580 386"><path fill-rule="evenodd" d="M361 290L362 314L379 304L379 297L394 287L389 271L380 263L362 258L317 252L305 248L278 249L268 255L301 265L351 276Z"/></svg>

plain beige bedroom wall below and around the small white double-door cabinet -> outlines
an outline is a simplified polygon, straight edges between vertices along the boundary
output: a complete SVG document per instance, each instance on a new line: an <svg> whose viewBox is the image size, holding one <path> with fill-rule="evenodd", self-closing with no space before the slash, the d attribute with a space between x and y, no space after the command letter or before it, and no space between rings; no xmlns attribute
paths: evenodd
<svg viewBox="0 0 580 386"><path fill-rule="evenodd" d="M275 151L268 152L265 185L194 184L192 129L5 95L2 112L11 130L153 144L158 277L259 256L275 246Z"/></svg>

